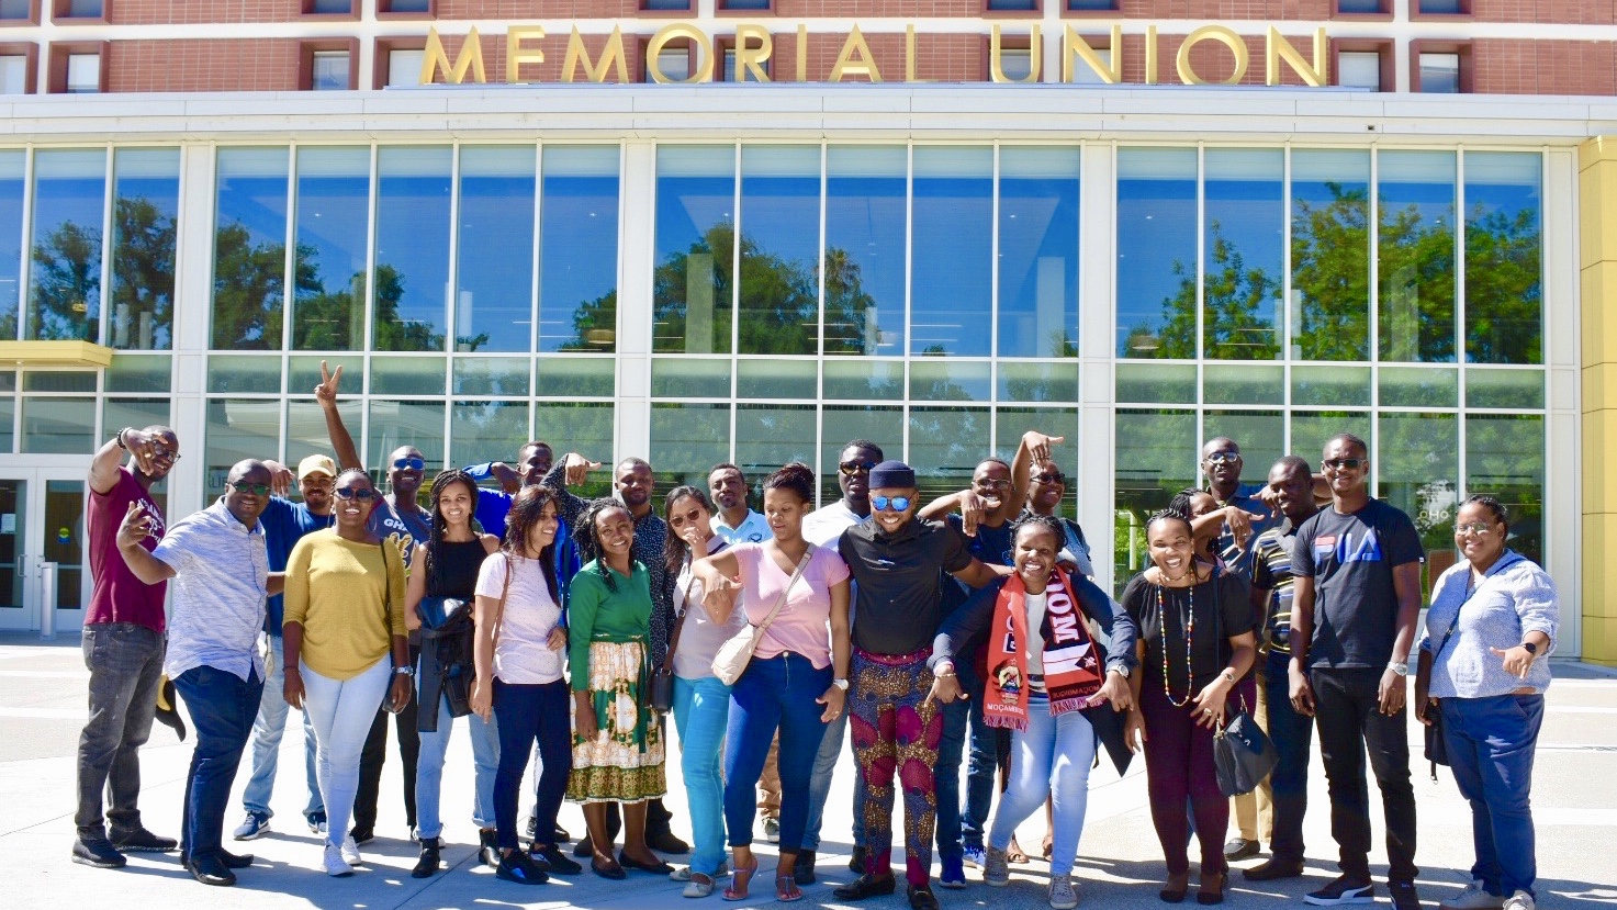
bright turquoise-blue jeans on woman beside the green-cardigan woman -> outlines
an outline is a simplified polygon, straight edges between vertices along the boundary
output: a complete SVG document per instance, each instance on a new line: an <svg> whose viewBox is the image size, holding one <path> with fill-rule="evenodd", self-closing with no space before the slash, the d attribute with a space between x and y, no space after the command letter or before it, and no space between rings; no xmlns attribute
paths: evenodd
<svg viewBox="0 0 1617 910"><path fill-rule="evenodd" d="M690 871L713 876L724 862L724 727L729 687L715 676L674 677L674 729L690 802Z"/></svg>

